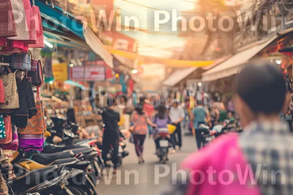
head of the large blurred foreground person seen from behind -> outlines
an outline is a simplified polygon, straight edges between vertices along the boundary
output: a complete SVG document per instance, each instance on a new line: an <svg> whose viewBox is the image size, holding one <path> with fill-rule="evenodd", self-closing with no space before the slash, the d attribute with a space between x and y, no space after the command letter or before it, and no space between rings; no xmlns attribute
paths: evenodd
<svg viewBox="0 0 293 195"><path fill-rule="evenodd" d="M286 83L282 70L267 61L252 61L239 73L234 103L241 124L253 120L278 119L286 97Z"/></svg>

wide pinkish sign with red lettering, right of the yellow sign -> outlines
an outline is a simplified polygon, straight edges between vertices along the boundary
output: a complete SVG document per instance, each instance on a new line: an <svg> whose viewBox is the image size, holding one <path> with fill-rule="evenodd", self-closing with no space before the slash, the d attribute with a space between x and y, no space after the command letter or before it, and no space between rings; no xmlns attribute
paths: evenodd
<svg viewBox="0 0 293 195"><path fill-rule="evenodd" d="M97 65L72 67L70 68L70 78L77 81L104 81L106 79L105 67Z"/></svg>

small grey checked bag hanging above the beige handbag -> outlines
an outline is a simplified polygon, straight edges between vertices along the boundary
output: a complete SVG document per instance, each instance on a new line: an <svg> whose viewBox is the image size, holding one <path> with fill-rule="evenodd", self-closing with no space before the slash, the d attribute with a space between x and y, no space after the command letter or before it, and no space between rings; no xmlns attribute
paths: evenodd
<svg viewBox="0 0 293 195"><path fill-rule="evenodd" d="M31 70L31 58L28 52L13 54L11 64L13 68L21 68L22 70Z"/></svg>

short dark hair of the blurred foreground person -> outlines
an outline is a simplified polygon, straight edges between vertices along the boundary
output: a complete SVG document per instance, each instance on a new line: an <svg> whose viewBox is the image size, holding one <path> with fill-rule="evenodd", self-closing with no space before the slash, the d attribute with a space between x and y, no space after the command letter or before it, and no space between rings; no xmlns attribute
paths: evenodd
<svg viewBox="0 0 293 195"><path fill-rule="evenodd" d="M239 73L236 92L255 114L278 114L286 96L283 72L277 64L252 61Z"/></svg>

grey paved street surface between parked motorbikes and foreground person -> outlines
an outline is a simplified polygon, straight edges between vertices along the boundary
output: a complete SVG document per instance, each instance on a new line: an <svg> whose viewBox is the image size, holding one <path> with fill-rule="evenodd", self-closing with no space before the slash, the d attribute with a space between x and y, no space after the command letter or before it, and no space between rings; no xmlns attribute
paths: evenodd
<svg viewBox="0 0 293 195"><path fill-rule="evenodd" d="M102 177L97 185L99 195L159 195L163 189L169 184L172 178L172 167L175 172L176 166L196 149L194 137L183 137L183 147L181 151L169 156L166 167L158 164L158 158L153 153L155 146L153 139L146 138L145 142L145 164L138 164L138 159L134 151L134 145L127 142L127 150L129 156L124 158L121 167L121 174L114 175L112 179ZM159 174L163 174L164 170L170 168L169 174L159 178ZM168 170L167 170L168 171ZM109 170L107 170L107 173ZM129 174L128 176L128 172ZM155 174L155 172L157 174ZM135 174L134 174L135 173ZM159 180L156 180L159 179ZM155 182L159 185L155 185Z"/></svg>

